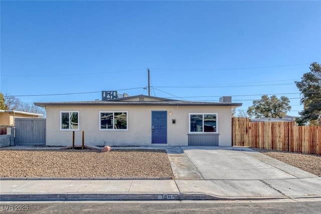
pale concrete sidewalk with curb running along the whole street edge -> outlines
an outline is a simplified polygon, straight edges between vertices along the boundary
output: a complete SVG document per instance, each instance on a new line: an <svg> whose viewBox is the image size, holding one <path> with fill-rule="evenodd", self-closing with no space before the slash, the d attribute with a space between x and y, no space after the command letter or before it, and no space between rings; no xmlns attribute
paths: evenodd
<svg viewBox="0 0 321 214"><path fill-rule="evenodd" d="M277 180L1 180L1 200L320 198L321 177Z"/></svg>

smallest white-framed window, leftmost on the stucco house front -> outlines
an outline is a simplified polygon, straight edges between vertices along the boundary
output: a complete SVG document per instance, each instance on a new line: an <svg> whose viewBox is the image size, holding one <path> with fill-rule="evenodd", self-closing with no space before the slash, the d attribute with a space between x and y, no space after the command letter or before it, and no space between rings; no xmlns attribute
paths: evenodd
<svg viewBox="0 0 321 214"><path fill-rule="evenodd" d="M79 131L79 111L61 111L60 112L60 130L61 131Z"/></svg>

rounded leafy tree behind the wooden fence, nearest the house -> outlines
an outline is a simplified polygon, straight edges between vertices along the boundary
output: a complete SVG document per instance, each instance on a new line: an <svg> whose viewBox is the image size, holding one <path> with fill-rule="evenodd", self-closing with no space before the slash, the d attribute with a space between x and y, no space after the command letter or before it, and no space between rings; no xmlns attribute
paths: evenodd
<svg viewBox="0 0 321 214"><path fill-rule="evenodd" d="M247 109L247 113L254 118L283 117L291 110L289 103L290 100L285 96L278 99L275 95L271 97L263 95L260 100L253 101L253 105Z"/></svg>

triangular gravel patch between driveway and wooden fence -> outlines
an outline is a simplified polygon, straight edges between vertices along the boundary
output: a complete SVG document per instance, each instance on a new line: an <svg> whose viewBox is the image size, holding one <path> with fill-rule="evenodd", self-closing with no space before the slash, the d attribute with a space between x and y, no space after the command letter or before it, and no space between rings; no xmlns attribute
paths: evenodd
<svg viewBox="0 0 321 214"><path fill-rule="evenodd" d="M269 157L290 164L304 171L321 176L321 156L293 152L275 151L261 148L250 148Z"/></svg>

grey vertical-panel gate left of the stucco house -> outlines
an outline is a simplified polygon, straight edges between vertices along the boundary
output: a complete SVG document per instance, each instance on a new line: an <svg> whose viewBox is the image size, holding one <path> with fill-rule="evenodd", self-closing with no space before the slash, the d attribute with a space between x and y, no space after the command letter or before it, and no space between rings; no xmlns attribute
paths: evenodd
<svg viewBox="0 0 321 214"><path fill-rule="evenodd" d="M16 118L15 145L46 145L46 119Z"/></svg>

